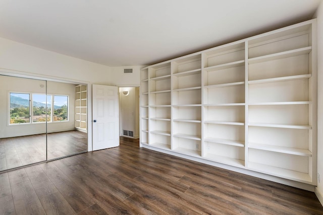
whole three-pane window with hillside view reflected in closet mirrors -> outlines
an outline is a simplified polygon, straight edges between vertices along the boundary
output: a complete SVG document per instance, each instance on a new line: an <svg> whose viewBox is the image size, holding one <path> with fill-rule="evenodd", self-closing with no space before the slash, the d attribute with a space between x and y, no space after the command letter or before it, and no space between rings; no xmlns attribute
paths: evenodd
<svg viewBox="0 0 323 215"><path fill-rule="evenodd" d="M40 123L46 119L68 121L68 96L10 93L9 124Z"/></svg>

